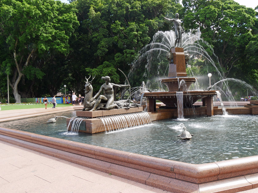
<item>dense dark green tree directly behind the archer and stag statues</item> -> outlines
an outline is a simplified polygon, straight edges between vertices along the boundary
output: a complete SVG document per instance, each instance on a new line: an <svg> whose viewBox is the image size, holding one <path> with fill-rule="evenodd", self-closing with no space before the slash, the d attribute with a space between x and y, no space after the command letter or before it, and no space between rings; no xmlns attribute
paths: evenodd
<svg viewBox="0 0 258 193"><path fill-rule="evenodd" d="M101 76L123 83L139 51L163 27L163 17L176 10L170 0L77 0L71 1L78 9L80 26L73 47L73 82L77 90L83 88L84 77L96 74L94 90L101 84ZM179 4L178 4L179 5ZM180 6L180 5L179 5ZM143 65L144 67L144 65ZM144 70L142 70L144 71ZM142 80L135 80L140 84ZM130 82L131 85L135 84ZM82 89L80 89L82 92Z"/></svg>

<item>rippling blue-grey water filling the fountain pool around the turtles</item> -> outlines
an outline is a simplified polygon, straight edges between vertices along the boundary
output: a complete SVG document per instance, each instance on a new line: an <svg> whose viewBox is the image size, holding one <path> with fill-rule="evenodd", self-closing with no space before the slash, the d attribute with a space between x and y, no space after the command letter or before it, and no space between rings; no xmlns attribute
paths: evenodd
<svg viewBox="0 0 258 193"><path fill-rule="evenodd" d="M66 133L66 121L53 116L75 117L76 111L44 115L0 123L1 127L27 131L50 137L87 143L142 155L192 164L257 155L257 115L215 115L195 119L165 119L151 125L97 134ZM194 134L192 140L181 140L178 127L183 123Z"/></svg>

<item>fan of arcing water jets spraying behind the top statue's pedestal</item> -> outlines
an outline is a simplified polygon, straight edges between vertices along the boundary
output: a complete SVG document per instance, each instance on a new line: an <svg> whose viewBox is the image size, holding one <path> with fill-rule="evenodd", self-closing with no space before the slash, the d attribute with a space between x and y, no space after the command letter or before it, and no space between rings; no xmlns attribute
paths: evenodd
<svg viewBox="0 0 258 193"><path fill-rule="evenodd" d="M212 55L210 56L207 51L205 51L205 48L201 45L205 45L205 47L209 47L210 51L213 51L213 49L209 46L208 43L206 43L204 40L200 39L198 41L202 42L202 44L194 43L192 41L192 38L195 35L192 33L183 33L182 34L182 47L184 48L184 51L187 51L190 54L190 59L196 59L197 62L195 66L198 66L200 63L202 66L207 68L207 73L209 66L212 66L213 69L216 70L217 74L213 75L213 80L218 78L221 80L221 88L223 86L223 89L225 90L225 96L227 97L227 100L234 101L234 98L232 96L232 93L229 89L229 82L227 78L224 77L224 74L221 66L218 66L219 63L217 56L212 52ZM147 81L147 88L149 89L158 89L159 86L159 80L163 79L164 77L160 77L159 74L166 74L167 73L167 60L165 59L166 53L170 51L170 48L174 47L174 40L175 40L175 32L174 31L166 31L162 32L159 31L153 36L153 40L150 44L145 46L140 51L140 57L135 60L135 62L132 65L132 68L128 74L129 79L133 79L140 76L138 74L140 71L139 69L145 70L143 79L148 79ZM198 63L198 61L201 61ZM146 65L141 67L141 64L145 63ZM188 65L190 69L190 65ZM190 69L190 76L194 77L193 70ZM150 78L155 77L155 78ZM203 88L205 85L207 85L207 78L199 79L199 84L203 85ZM179 84L179 82L178 82ZM194 88L193 88L194 89ZM199 86L196 85L197 90L199 89ZM201 89L202 90L202 89Z"/></svg>

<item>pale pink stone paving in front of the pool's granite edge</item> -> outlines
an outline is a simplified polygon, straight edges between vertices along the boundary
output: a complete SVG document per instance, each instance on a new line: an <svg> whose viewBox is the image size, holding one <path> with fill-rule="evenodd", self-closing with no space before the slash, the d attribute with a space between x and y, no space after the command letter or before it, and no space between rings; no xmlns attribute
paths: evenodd
<svg viewBox="0 0 258 193"><path fill-rule="evenodd" d="M169 193L2 141L0 155L0 192Z"/></svg>

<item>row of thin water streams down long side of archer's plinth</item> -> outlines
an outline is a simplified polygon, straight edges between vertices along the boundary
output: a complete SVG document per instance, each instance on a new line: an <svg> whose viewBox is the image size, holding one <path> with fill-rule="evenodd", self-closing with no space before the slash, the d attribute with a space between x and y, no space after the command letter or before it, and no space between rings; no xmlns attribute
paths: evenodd
<svg viewBox="0 0 258 193"><path fill-rule="evenodd" d="M115 131L145 125L151 123L151 118L147 112L128 113L121 115L112 115L100 118L104 124L105 131Z"/></svg>

